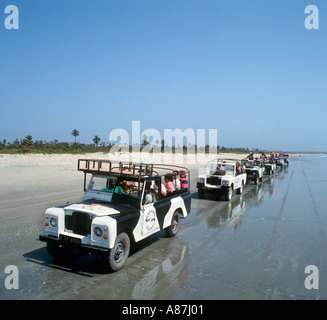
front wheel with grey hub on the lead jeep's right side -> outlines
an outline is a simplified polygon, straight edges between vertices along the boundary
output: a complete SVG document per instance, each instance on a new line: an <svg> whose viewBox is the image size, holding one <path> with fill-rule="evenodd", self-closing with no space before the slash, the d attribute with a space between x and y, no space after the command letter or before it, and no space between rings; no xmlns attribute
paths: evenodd
<svg viewBox="0 0 327 320"><path fill-rule="evenodd" d="M115 245L104 254L104 266L108 272L116 272L122 269L127 261L131 243L127 233L120 233L115 241Z"/></svg>

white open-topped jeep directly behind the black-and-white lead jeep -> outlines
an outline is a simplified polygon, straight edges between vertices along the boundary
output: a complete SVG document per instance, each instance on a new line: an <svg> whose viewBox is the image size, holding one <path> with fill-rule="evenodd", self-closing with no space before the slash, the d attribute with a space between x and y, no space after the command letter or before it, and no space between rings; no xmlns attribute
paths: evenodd
<svg viewBox="0 0 327 320"><path fill-rule="evenodd" d="M237 161L213 160L207 165L206 174L199 175L197 181L198 197L204 198L205 193L222 193L226 201L232 199L233 190L243 192L246 184L246 173L236 172Z"/></svg>

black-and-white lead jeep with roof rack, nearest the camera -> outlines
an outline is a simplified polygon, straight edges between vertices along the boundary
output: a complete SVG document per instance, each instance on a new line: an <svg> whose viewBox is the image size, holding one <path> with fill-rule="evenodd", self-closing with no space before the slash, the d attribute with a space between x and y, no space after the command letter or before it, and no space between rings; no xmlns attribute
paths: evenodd
<svg viewBox="0 0 327 320"><path fill-rule="evenodd" d="M162 176L180 168L79 159L78 170L84 172L82 202L47 209L39 239L47 242L53 257L84 250L103 255L106 271L120 270L132 244L162 229L175 236L180 218L189 214L188 188L163 194ZM189 179L189 171L183 170Z"/></svg>

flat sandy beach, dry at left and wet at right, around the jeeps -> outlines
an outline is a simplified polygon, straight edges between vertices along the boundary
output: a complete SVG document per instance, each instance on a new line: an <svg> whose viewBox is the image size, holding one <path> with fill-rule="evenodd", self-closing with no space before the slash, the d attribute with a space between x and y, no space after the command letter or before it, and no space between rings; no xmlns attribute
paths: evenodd
<svg viewBox="0 0 327 320"><path fill-rule="evenodd" d="M0 157L0 270L16 265L20 276L19 289L7 290L0 273L0 299L327 298L326 157L294 157L231 202L199 200L198 165L191 165L192 209L178 236L142 241L114 274L103 272L98 256L55 261L38 241L44 210L82 196L76 159L83 157L50 158L8 165ZM319 270L318 289L305 286L308 265Z"/></svg>

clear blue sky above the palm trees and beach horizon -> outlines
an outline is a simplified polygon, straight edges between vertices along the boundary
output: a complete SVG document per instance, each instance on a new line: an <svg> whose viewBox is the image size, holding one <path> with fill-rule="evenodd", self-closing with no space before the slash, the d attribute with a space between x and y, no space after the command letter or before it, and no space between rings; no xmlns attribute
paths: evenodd
<svg viewBox="0 0 327 320"><path fill-rule="evenodd" d="M73 142L76 128L108 142L139 120L217 129L220 146L327 151L326 1L0 0L0 48L1 141Z"/></svg>

